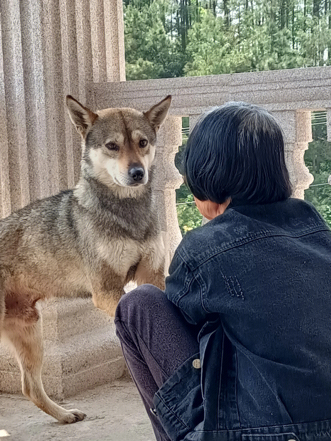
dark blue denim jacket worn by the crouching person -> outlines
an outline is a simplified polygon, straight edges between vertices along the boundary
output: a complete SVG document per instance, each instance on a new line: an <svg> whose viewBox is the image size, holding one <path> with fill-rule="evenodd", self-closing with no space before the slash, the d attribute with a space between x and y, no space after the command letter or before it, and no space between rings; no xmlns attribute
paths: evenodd
<svg viewBox="0 0 331 441"><path fill-rule="evenodd" d="M171 440L331 440L331 231L316 209L231 207L186 234L169 274L200 329L200 353L154 396Z"/></svg>

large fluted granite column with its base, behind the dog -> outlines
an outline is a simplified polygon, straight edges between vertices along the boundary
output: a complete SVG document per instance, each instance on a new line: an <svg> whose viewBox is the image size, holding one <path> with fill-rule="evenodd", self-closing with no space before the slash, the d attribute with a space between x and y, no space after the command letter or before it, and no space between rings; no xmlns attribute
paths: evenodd
<svg viewBox="0 0 331 441"><path fill-rule="evenodd" d="M64 98L93 107L95 81L125 80L120 0L0 1L0 217L74 187L80 137ZM43 304L45 390L61 399L125 372L112 320L90 300ZM0 391L21 389L0 344Z"/></svg>

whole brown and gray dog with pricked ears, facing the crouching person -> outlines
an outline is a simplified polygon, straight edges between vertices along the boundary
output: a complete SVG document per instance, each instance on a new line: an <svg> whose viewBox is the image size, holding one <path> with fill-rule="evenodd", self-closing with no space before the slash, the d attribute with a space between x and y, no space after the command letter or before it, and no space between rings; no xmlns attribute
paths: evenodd
<svg viewBox="0 0 331 441"><path fill-rule="evenodd" d="M23 394L60 422L85 415L45 393L37 301L92 294L94 305L113 316L129 280L164 288L164 241L151 182L156 132L170 102L168 96L144 113L92 112L67 96L82 136L77 186L0 221L0 338L19 362Z"/></svg>

